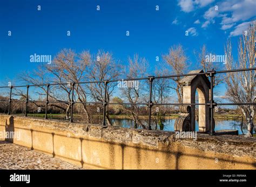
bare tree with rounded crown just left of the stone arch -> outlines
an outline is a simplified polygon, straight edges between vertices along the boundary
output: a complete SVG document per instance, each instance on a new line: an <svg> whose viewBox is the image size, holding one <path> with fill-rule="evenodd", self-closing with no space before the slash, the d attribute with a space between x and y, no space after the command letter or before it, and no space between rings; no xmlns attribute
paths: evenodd
<svg viewBox="0 0 256 187"><path fill-rule="evenodd" d="M172 75L179 75L184 74L187 71L188 63L187 63L187 56L185 51L181 45L174 45L169 49L169 53L163 55L164 61L170 67L170 74ZM178 102L183 102L183 87L180 85L179 81L182 77L173 77L172 80L173 85L169 86L171 89L175 90L178 95Z"/></svg>

